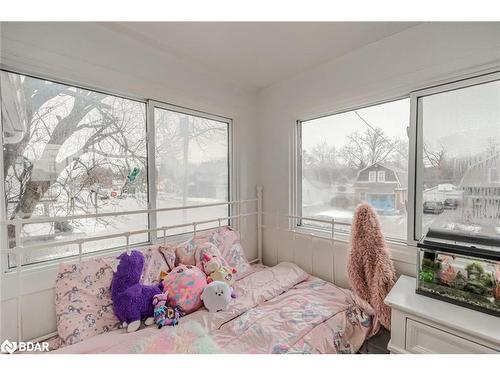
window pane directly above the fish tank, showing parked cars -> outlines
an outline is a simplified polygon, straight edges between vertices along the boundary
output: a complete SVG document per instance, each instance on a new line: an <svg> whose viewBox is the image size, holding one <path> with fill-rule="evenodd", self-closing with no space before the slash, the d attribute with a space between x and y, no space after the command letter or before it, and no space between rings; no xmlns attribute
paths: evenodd
<svg viewBox="0 0 500 375"><path fill-rule="evenodd" d="M421 97L422 231L500 234L500 82Z"/></svg>

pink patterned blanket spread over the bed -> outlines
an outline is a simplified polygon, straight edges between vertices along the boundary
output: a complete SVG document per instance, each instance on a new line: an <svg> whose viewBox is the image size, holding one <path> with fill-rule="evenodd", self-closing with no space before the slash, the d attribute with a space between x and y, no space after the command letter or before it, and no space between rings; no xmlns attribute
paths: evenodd
<svg viewBox="0 0 500 375"><path fill-rule="evenodd" d="M53 353L355 353L374 333L366 302L294 264L256 267L234 286L237 298L225 312L200 309L177 327L113 331ZM199 349L173 345L181 331Z"/></svg>

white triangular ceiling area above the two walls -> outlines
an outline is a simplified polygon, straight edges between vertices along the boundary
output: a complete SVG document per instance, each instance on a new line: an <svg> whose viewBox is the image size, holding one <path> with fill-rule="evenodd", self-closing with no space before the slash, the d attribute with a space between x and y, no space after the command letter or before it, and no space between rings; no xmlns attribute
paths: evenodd
<svg viewBox="0 0 500 375"><path fill-rule="evenodd" d="M414 22L120 22L102 26L261 89Z"/></svg>

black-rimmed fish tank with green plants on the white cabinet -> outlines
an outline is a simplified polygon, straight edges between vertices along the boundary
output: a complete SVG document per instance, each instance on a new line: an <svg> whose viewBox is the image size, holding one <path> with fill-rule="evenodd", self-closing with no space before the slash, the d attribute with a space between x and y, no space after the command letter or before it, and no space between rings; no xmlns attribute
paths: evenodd
<svg viewBox="0 0 500 375"><path fill-rule="evenodd" d="M429 229L417 267L417 294L500 316L500 239Z"/></svg>

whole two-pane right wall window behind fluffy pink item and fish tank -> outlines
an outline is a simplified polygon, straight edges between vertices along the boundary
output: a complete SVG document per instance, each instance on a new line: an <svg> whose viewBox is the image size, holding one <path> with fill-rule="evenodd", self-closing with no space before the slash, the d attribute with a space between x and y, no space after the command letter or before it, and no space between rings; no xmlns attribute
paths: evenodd
<svg viewBox="0 0 500 375"><path fill-rule="evenodd" d="M409 95L299 121L297 212L350 222L367 202L386 238L411 245L431 227L498 236L500 72Z"/></svg>

